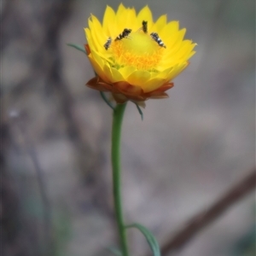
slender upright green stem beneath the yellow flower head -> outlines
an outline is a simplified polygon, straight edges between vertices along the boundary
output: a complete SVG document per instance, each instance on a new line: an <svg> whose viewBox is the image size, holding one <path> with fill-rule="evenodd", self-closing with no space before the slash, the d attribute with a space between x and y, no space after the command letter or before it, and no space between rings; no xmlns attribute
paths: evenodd
<svg viewBox="0 0 256 256"><path fill-rule="evenodd" d="M120 168L120 137L122 120L125 113L126 103L117 104L113 110L112 126L112 168L113 168L113 201L114 210L119 230L119 239L122 256L129 256L127 239L125 233L125 223L121 198L121 168Z"/></svg>

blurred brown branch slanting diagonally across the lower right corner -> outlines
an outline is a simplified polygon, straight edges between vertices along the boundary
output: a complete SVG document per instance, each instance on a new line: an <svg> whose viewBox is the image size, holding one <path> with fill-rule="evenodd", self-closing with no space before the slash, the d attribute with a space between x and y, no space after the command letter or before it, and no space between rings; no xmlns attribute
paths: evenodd
<svg viewBox="0 0 256 256"><path fill-rule="evenodd" d="M252 192L256 187L256 169L248 173L239 183L236 183L228 192L226 192L218 201L216 201L212 207L209 207L207 211L200 212L191 218L188 224L179 230L169 241L161 247L162 255L166 255L173 250L177 250L183 247L191 238L193 238L200 230L205 228L207 224L217 219L222 213L224 213L229 207L234 205L242 197Z"/></svg>

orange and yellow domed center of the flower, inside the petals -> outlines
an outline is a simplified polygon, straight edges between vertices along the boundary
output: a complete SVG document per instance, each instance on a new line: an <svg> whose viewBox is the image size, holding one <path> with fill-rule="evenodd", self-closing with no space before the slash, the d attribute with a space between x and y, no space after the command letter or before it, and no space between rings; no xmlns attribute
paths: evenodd
<svg viewBox="0 0 256 256"><path fill-rule="evenodd" d="M127 38L113 41L111 48L117 67L131 66L151 71L158 66L165 50L142 31L131 32Z"/></svg>

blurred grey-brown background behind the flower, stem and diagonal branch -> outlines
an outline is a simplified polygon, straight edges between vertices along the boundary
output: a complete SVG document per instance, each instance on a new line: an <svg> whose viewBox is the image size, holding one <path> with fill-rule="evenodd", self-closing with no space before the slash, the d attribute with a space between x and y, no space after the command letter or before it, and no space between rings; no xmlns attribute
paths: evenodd
<svg viewBox="0 0 256 256"><path fill-rule="evenodd" d="M167 14L198 44L189 67L146 102L142 121L128 104L122 137L127 223L164 244L255 166L255 1L124 1ZM5 256L112 255L112 110L84 84L85 43L100 0L3 0L1 222ZM108 5L117 9L119 2ZM254 255L255 194L250 193L165 255ZM132 255L149 255L129 231Z"/></svg>

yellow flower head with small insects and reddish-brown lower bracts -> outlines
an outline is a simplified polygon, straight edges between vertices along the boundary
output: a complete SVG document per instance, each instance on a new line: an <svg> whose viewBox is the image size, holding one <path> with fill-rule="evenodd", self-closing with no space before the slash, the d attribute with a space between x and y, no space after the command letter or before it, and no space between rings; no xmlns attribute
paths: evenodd
<svg viewBox="0 0 256 256"><path fill-rule="evenodd" d="M91 15L85 28L85 49L96 77L90 88L112 92L116 102L143 102L168 97L170 83L195 54L186 30L166 15L154 22L145 6L138 14L121 3L117 12L107 6L102 23Z"/></svg>

